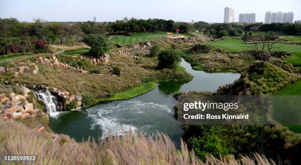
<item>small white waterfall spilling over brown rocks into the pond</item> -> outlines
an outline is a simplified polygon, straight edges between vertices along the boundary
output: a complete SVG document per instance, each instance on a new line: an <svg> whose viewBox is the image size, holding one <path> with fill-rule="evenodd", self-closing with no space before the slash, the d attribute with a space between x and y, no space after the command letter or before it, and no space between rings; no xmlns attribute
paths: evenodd
<svg viewBox="0 0 301 165"><path fill-rule="evenodd" d="M38 99L44 103L48 114L57 112L57 98L49 90L39 90L35 93Z"/></svg>

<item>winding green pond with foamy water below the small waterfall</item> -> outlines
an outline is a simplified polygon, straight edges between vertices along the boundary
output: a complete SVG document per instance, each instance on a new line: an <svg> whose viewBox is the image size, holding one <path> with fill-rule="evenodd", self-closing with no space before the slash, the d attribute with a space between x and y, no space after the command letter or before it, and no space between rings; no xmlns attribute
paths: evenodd
<svg viewBox="0 0 301 165"><path fill-rule="evenodd" d="M143 135L167 134L179 141L183 130L174 118L173 94L179 91L215 92L218 86L233 83L238 73L206 73L191 69L182 59L181 66L194 76L189 83L158 83L152 91L128 100L99 104L81 111L50 115L50 127L57 134L66 134L77 141L89 136L98 138L137 131Z"/></svg>

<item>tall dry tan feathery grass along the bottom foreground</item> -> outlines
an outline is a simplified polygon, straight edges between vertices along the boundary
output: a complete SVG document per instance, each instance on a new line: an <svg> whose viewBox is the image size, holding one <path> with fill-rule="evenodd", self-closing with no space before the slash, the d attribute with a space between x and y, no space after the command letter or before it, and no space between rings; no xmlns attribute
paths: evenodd
<svg viewBox="0 0 301 165"><path fill-rule="evenodd" d="M181 141L181 149L166 135L145 138L138 134L77 143L66 135L50 138L50 133L30 131L22 123L4 121L0 117L0 155L37 155L30 165L275 165L264 156L253 158L233 156L214 158L206 162L196 158ZM0 164L18 165L22 162Z"/></svg>

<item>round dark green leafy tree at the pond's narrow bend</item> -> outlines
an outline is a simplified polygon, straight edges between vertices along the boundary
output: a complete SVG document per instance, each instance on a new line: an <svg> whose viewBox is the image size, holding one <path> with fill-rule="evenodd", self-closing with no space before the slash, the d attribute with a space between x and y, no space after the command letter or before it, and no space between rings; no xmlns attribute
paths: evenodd
<svg viewBox="0 0 301 165"><path fill-rule="evenodd" d="M169 49L158 54L159 68L173 68L181 61L181 56L176 51Z"/></svg>

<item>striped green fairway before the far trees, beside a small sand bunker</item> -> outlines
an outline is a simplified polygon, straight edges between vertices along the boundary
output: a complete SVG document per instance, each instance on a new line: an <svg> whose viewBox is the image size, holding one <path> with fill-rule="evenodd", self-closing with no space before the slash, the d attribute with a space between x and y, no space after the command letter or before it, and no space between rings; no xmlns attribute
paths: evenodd
<svg viewBox="0 0 301 165"><path fill-rule="evenodd" d="M170 34L167 34L170 33ZM152 41L159 39L161 37L166 36L193 36L188 33L174 33L174 32L166 32L166 31L158 31L158 32L141 32L141 33L133 33L130 35L118 35L118 38L114 36L113 38L109 39L110 44L134 44L141 41Z"/></svg>

